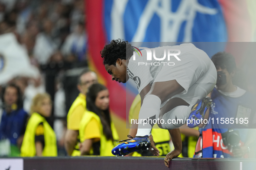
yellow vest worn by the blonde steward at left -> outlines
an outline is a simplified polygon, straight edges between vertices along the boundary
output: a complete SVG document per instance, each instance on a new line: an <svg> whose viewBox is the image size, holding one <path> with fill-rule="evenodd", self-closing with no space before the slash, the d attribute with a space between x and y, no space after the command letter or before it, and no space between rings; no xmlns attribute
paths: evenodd
<svg viewBox="0 0 256 170"><path fill-rule="evenodd" d="M40 126L40 123L42 123L43 126ZM41 127L43 127L43 129L41 129ZM55 132L43 116L41 116L39 113L32 113L32 116L29 118L20 149L20 155L22 157L36 156L35 135L36 133L40 134L42 132L45 142L42 150L42 156L57 156L57 143Z"/></svg>

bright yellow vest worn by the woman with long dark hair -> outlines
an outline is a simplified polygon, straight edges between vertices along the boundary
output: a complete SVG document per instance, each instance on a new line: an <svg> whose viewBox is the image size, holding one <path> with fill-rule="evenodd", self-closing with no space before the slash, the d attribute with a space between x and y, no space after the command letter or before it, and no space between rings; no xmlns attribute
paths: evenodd
<svg viewBox="0 0 256 170"><path fill-rule="evenodd" d="M96 122L94 123L93 121L95 120ZM94 128L87 129L88 128L87 126L89 124L92 125L92 122L95 125ZM79 128L81 143L83 143L84 140L86 140L86 136L93 136L94 138L100 139L100 141L97 141L99 142L98 144L100 145L93 144L93 148L91 148L91 151L90 151L91 155L113 156L113 154L111 153L111 150L116 146L116 143L118 142L118 139L119 139L117 135L117 130L113 122L111 122L111 131L112 131L114 141L107 140L106 136L104 135L103 126L101 124L100 117L91 111L87 111L87 110L85 111L83 119L81 120L81 123L80 123L80 128ZM94 142L94 143L97 143L97 142Z"/></svg>

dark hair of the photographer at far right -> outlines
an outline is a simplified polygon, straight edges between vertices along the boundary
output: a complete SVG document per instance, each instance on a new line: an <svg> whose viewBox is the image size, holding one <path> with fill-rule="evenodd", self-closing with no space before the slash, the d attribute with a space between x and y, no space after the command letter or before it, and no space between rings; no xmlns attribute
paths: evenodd
<svg viewBox="0 0 256 170"><path fill-rule="evenodd" d="M237 65L232 54L227 52L218 52L211 57L216 68L227 69L229 73L236 71Z"/></svg>

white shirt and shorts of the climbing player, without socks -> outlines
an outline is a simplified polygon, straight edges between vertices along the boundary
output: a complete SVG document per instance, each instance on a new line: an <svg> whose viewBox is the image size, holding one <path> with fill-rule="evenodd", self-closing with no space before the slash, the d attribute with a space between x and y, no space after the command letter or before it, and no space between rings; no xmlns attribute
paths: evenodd
<svg viewBox="0 0 256 170"><path fill-rule="evenodd" d="M153 50L155 50L155 56L160 59L164 56L164 49L165 60L155 60ZM177 56L180 61L174 56L170 56L168 60L167 49L180 50L181 54ZM185 90L172 98L182 98L188 104L195 104L198 99L207 96L214 88L217 80L214 63L194 44L156 47L151 51L152 60L147 60L146 50L141 50L142 56L136 53L135 60L130 57L127 66L129 78L136 83L139 93L148 84L176 80ZM170 53L175 54L178 51Z"/></svg>

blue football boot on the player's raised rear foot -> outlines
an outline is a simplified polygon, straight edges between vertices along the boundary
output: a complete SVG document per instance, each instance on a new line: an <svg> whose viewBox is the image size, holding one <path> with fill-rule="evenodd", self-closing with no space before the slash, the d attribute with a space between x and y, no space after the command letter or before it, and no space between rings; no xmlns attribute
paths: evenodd
<svg viewBox="0 0 256 170"><path fill-rule="evenodd" d="M188 124L188 127L194 128L201 124L201 121L196 120L204 120L204 115L206 113L206 110L211 106L211 98L208 96L201 98L191 109L191 113L188 116L188 120L191 120L191 122Z"/></svg>

